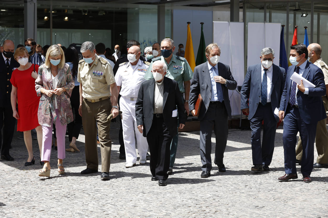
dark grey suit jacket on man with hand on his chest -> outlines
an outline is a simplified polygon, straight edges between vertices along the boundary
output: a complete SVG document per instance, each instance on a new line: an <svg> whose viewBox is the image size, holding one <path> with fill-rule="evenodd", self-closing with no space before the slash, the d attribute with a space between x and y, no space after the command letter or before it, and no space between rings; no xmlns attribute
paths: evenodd
<svg viewBox="0 0 328 218"><path fill-rule="evenodd" d="M222 76L227 80L227 86L221 84L223 92L224 105L227 110L228 116L231 117L231 107L228 95L228 89L235 90L237 87L237 82L231 74L229 65L223 63L217 63L219 76ZM190 82L190 95L189 95L189 109L195 109L195 104L198 98L198 94L203 98L202 104L200 106L200 111L198 115L198 120L202 120L207 112L208 106L211 101L211 77L210 71L207 66L207 61L195 67L194 75Z"/></svg>

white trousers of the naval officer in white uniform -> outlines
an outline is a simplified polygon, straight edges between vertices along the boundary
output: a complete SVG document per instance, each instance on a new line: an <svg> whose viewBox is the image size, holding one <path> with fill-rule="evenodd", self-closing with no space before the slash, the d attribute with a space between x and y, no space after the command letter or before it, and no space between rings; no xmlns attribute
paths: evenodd
<svg viewBox="0 0 328 218"><path fill-rule="evenodd" d="M137 128L137 121L135 119L135 101L128 98L120 98L120 109L122 111L122 126L123 126L123 140L125 147L126 162L136 163L137 154L135 151L135 138L137 139L137 148L140 160L146 160L148 143L146 137L142 136Z"/></svg>

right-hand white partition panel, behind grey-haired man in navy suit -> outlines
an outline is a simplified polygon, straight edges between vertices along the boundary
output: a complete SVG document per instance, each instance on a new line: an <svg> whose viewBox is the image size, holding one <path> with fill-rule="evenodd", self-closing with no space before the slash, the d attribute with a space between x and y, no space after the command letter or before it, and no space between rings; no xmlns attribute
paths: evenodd
<svg viewBox="0 0 328 218"><path fill-rule="evenodd" d="M279 66L281 24L248 23L247 66L260 63L261 50L270 47L275 51L273 63Z"/></svg>

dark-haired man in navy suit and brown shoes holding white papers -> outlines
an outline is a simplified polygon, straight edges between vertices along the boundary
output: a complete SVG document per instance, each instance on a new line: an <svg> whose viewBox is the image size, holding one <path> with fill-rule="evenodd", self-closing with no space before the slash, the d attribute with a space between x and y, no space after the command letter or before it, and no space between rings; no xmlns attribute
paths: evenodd
<svg viewBox="0 0 328 218"><path fill-rule="evenodd" d="M308 50L304 44L290 47L289 61L285 88L281 96L279 119L284 119L283 146L285 155L285 175L279 181L296 179L295 145L299 131L303 145L301 173L304 182L312 182L310 174L313 170L314 141L318 121L326 118L321 96L325 95L326 87L322 70L307 61ZM303 80L300 84L290 79L296 72L315 85L315 88L306 88Z"/></svg>

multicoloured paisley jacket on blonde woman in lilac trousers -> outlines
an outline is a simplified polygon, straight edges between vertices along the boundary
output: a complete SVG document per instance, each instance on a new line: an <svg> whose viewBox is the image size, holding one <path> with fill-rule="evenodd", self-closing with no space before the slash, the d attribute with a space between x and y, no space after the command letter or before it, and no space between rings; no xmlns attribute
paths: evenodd
<svg viewBox="0 0 328 218"><path fill-rule="evenodd" d="M58 68L58 83L55 88L62 87L65 87L66 92L62 92L61 95L56 95L56 101L60 124L65 126L73 121L70 97L74 88L74 80L71 74L71 69L66 63L63 68ZM40 125L51 127L52 117L53 123L55 123L58 118L55 112L55 94L48 97L46 94L41 93L41 88L54 90L52 85L51 69L46 68L44 64L39 67L38 78L35 80L36 94L41 96L38 109L38 120Z"/></svg>

